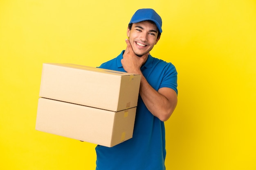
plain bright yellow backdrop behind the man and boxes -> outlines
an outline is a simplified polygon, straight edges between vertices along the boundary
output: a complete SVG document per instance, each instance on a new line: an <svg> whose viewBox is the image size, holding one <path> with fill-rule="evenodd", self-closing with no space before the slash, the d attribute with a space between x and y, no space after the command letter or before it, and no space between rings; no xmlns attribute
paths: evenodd
<svg viewBox="0 0 256 170"><path fill-rule="evenodd" d="M95 144L35 130L42 64L116 57L139 8L162 16L151 54L178 71L167 170L256 170L255 0L1 0L0 169L95 169Z"/></svg>

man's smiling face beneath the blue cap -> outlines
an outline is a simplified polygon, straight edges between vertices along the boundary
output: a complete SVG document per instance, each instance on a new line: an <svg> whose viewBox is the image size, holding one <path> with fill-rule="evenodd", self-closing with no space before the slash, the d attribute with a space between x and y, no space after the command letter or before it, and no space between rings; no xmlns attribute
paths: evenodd
<svg viewBox="0 0 256 170"><path fill-rule="evenodd" d="M153 49L159 40L157 34L157 26L148 21L134 23L131 30L127 29L127 36L137 56L142 56Z"/></svg>

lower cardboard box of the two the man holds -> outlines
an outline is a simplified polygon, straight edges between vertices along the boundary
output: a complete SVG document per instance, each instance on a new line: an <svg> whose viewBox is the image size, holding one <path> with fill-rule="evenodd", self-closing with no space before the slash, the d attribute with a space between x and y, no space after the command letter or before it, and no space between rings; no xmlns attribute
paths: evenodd
<svg viewBox="0 0 256 170"><path fill-rule="evenodd" d="M135 113L39 98L36 130L112 147L132 138Z"/></svg>

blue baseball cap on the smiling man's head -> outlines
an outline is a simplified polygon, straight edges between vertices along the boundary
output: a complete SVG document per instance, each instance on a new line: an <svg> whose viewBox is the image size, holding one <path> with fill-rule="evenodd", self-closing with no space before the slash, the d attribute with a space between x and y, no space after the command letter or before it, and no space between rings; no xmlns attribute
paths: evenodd
<svg viewBox="0 0 256 170"><path fill-rule="evenodd" d="M131 23L138 23L141 21L153 21L155 22L158 30L162 33L162 19L161 17L155 12L154 9L139 9L133 15L132 19L130 20L129 24Z"/></svg>

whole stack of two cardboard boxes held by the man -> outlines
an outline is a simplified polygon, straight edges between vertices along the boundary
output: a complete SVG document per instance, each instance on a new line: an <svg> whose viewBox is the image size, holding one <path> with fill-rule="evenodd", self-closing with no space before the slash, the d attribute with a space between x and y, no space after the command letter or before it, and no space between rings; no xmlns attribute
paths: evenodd
<svg viewBox="0 0 256 170"><path fill-rule="evenodd" d="M44 63L36 130L112 147L132 138L141 76Z"/></svg>

